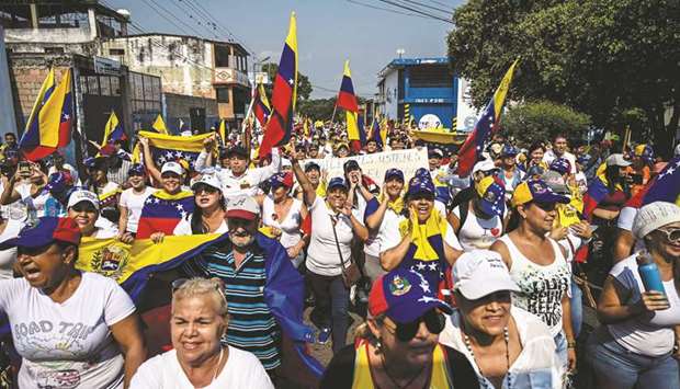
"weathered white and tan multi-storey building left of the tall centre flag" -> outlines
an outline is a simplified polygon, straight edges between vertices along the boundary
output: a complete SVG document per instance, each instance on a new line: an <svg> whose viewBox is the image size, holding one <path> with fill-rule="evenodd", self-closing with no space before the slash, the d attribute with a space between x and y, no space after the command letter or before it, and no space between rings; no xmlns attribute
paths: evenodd
<svg viewBox="0 0 680 389"><path fill-rule="evenodd" d="M248 52L237 43L195 36L141 34L112 37L101 55L162 80L170 127L180 119L204 131L219 118L242 119L250 101Z"/></svg>

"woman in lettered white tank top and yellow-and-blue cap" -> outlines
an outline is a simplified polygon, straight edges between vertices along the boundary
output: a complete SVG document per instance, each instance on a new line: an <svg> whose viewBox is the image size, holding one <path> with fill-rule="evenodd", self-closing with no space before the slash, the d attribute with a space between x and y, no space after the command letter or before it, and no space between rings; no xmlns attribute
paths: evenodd
<svg viewBox="0 0 680 389"><path fill-rule="evenodd" d="M566 250L547 237L557 217L557 203L567 204L569 198L556 194L541 180L522 182L511 199L517 228L500 237L491 250L501 255L520 287L520 291L513 294L512 304L547 324L564 369L573 370L576 368L576 341L567 294L571 270Z"/></svg>

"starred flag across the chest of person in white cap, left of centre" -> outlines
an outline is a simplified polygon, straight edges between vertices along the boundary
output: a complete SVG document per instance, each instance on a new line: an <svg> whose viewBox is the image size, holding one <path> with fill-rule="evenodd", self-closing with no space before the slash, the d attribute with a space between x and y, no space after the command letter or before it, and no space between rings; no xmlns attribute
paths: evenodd
<svg viewBox="0 0 680 389"><path fill-rule="evenodd" d="M194 194L182 191L170 195L158 191L147 197L139 216L137 239L147 239L154 232L163 232L170 236L182 218L194 210Z"/></svg>

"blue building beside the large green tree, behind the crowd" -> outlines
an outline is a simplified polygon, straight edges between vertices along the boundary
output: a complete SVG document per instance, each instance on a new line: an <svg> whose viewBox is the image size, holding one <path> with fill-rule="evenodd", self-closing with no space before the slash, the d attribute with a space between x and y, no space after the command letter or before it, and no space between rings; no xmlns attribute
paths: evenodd
<svg viewBox="0 0 680 389"><path fill-rule="evenodd" d="M378 73L377 88L377 110L388 119L405 121L408 112L416 123L439 122L455 128L458 79L451 72L449 58L393 59Z"/></svg>

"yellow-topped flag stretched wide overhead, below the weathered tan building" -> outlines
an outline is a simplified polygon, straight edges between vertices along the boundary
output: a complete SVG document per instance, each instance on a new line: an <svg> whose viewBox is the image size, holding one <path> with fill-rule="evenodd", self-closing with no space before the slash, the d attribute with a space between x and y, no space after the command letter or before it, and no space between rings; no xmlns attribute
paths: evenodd
<svg viewBox="0 0 680 389"><path fill-rule="evenodd" d="M138 136L149 139L149 148L151 149L154 162L156 162L156 165L160 169L166 162L180 160L185 160L189 162L189 165L193 168L199 153L203 151L203 141L212 137L213 134L179 136L139 131ZM134 161L139 160L138 153L139 148L135 147L133 156Z"/></svg>

